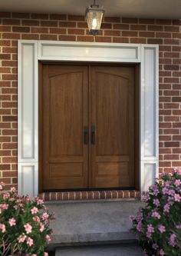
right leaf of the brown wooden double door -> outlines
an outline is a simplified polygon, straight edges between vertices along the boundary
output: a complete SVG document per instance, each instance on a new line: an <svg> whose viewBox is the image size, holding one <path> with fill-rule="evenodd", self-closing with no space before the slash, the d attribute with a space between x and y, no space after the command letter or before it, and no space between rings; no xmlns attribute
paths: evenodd
<svg viewBox="0 0 181 256"><path fill-rule="evenodd" d="M91 188L134 186L133 81L133 67L91 67Z"/></svg>

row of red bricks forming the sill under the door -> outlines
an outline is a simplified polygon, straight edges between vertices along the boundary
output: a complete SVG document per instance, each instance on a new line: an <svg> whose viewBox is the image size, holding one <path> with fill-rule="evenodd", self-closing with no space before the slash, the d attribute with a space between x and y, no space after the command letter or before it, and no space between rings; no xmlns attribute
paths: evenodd
<svg viewBox="0 0 181 256"><path fill-rule="evenodd" d="M104 191L61 191L43 192L38 197L44 201L74 201L99 199L140 199L137 190L104 190Z"/></svg>

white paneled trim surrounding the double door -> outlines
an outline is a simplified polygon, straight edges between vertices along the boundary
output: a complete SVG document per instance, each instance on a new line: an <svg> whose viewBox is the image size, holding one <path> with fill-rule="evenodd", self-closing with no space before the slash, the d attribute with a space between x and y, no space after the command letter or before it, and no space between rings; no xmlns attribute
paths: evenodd
<svg viewBox="0 0 181 256"><path fill-rule="evenodd" d="M38 60L140 63L140 190L153 184L159 151L158 54L158 45L19 40L18 192L38 193Z"/></svg>

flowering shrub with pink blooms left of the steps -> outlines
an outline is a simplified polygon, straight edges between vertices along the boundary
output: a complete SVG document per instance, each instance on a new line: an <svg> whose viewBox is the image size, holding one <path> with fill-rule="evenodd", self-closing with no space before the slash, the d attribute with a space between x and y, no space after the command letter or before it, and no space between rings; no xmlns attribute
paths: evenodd
<svg viewBox="0 0 181 256"><path fill-rule="evenodd" d="M49 223L53 219L39 198L20 196L15 188L4 191L0 184L0 255L48 255L45 246L51 240Z"/></svg>

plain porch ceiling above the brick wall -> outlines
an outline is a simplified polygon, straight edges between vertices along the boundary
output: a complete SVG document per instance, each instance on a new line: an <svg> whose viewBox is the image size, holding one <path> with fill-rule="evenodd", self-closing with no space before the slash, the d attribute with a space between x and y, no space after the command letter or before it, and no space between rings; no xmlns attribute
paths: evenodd
<svg viewBox="0 0 181 256"><path fill-rule="evenodd" d="M1 0L0 12L84 15L93 0ZM96 0L105 16L129 18L181 18L181 0Z"/></svg>

